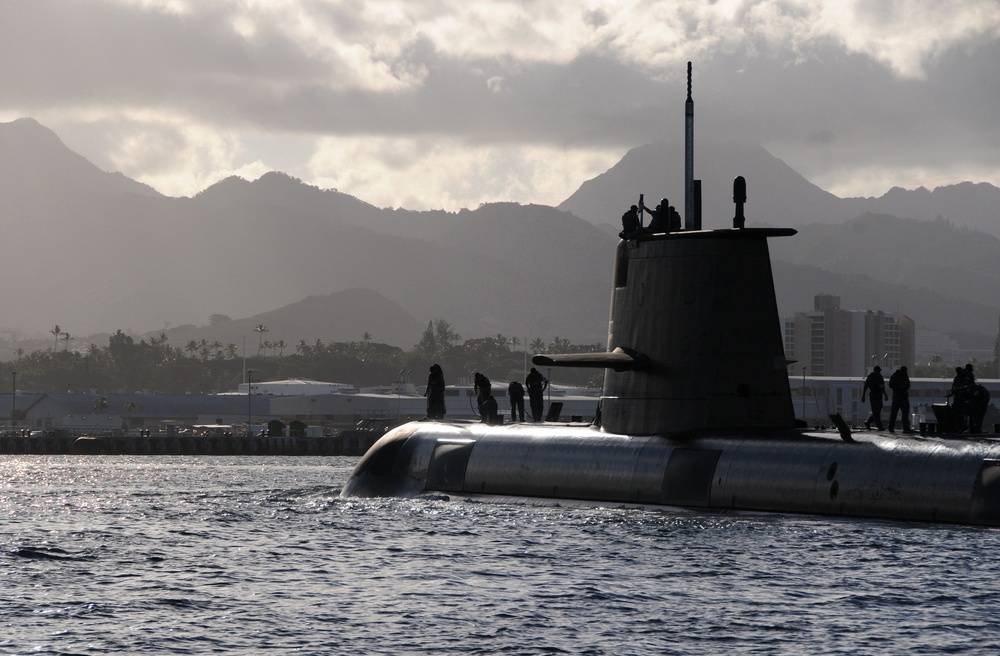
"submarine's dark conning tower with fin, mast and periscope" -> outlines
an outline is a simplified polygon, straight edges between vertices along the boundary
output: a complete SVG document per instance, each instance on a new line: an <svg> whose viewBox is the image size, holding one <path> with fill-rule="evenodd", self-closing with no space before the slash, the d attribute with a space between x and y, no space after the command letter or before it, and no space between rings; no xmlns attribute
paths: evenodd
<svg viewBox="0 0 1000 656"><path fill-rule="evenodd" d="M768 237L746 228L746 181L733 182L733 227L701 229L694 102L685 102L685 229L626 235L615 254L608 353L538 355L545 366L605 367L601 421L629 435L795 423Z"/></svg>

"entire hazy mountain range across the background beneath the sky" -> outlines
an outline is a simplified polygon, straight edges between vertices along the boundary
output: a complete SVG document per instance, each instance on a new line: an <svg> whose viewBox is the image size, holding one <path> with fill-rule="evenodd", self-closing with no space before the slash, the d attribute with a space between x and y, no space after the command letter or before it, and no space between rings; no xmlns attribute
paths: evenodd
<svg viewBox="0 0 1000 656"><path fill-rule="evenodd" d="M255 345L265 324L287 344L367 332L409 348L443 318L466 338L603 342L618 217L639 193L681 200L682 152L632 149L558 207L415 212L281 173L166 197L99 170L32 119L0 124L0 337L51 346L59 324L74 347L117 329ZM846 308L996 334L1000 189L841 199L757 146L707 143L697 155L705 227L729 223L731 181L744 175L748 225L799 230L772 242L782 312L835 293Z"/></svg>

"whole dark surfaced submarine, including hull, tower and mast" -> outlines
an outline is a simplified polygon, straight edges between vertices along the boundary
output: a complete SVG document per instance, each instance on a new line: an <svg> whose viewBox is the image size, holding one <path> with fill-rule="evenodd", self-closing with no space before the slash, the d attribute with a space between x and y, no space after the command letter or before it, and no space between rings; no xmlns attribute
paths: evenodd
<svg viewBox="0 0 1000 656"><path fill-rule="evenodd" d="M690 71L683 228L616 245L606 352L532 359L604 369L594 421L410 422L361 457L341 495L1000 525L1000 442L797 422L768 251L796 231L747 227L742 177L732 226L701 227Z"/></svg>

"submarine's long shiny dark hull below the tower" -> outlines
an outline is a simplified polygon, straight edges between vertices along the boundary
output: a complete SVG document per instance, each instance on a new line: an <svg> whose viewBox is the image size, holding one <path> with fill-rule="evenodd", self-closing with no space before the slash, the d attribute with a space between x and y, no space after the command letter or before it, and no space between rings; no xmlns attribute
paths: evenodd
<svg viewBox="0 0 1000 656"><path fill-rule="evenodd" d="M586 425L413 422L344 496L537 497L1000 525L1000 445L801 430L630 436Z"/></svg>

